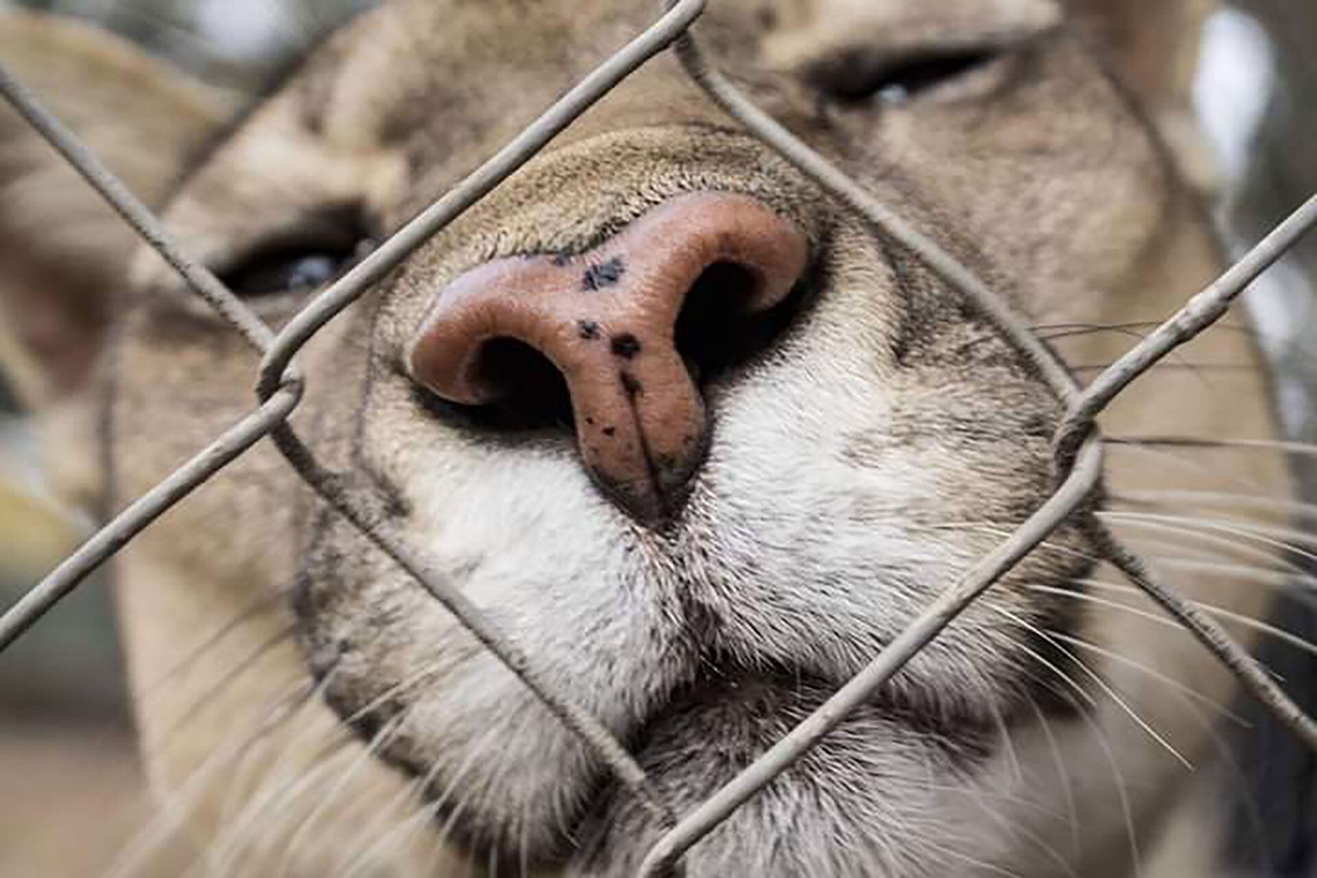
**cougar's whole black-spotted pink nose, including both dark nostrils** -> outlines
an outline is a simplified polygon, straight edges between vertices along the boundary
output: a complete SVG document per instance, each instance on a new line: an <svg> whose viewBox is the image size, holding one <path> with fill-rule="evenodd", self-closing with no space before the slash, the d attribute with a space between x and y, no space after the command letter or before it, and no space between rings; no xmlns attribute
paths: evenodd
<svg viewBox="0 0 1317 878"><path fill-rule="evenodd" d="M789 325L809 257L802 229L755 199L685 195L587 253L458 275L417 326L407 373L429 411L574 429L602 492L655 525L680 512L709 449L702 384Z"/></svg>

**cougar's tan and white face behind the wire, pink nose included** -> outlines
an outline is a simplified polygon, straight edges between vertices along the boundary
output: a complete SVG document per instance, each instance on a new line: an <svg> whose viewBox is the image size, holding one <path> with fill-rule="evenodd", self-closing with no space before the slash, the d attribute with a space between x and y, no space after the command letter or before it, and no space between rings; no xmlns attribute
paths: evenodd
<svg viewBox="0 0 1317 878"><path fill-rule="evenodd" d="M386 4L215 146L165 216L265 317L286 320L652 21L651 5ZM1031 324L1159 319L1210 271L1210 247L1075 24L1127 13L1088 5L716 0L697 33L760 105ZM134 278L111 366L121 496L246 411L254 367L166 269L144 257ZM1246 340L1226 334L1212 344L1251 362ZM1058 341L1077 369L1126 344ZM307 442L387 496L391 524L636 754L677 813L818 707L1054 488L1060 407L1044 383L910 253L722 116L669 55L421 246L299 362L308 392L294 424ZM1258 376L1221 380L1235 388L1230 412L1220 384L1187 382L1150 387L1160 396L1135 398L1117 423L1167 433L1229 417L1266 430ZM1279 482L1266 461L1249 466ZM1115 455L1112 480L1173 486L1180 475L1163 470ZM163 729L183 708L144 702L161 782L182 785L211 745L311 679L309 713L282 721L278 748L324 753L337 740L325 729L350 727L366 745L336 744L358 758L325 770L349 790L333 795L400 777L415 798L381 794L392 811L303 829L296 856L319 845L340 852L319 869L406 861L424 874L408 860L421 839L514 874L631 874L660 832L651 815L306 494L262 450L130 550L125 582L136 570L146 583L124 595L140 678L220 616L275 596L253 623L274 646L223 696L223 733L180 746ZM1202 659L1176 633L1085 603L1098 562L1077 524L1054 534L697 845L689 874L1126 867L1126 821L1155 825L1187 775L1100 681L1123 683L1121 703L1187 753L1204 732L1104 652L1169 675ZM1259 599L1234 600L1247 611ZM1065 646L1076 641L1102 652ZM196 674L232 671L241 652ZM1214 674L1201 684L1223 694ZM315 719L316 699L335 723ZM307 770L328 758L308 756ZM1112 760L1138 773L1137 790ZM257 800L261 783L244 783ZM277 820L284 806L253 807ZM198 811L232 825L232 794ZM311 811L294 825L323 816Z"/></svg>

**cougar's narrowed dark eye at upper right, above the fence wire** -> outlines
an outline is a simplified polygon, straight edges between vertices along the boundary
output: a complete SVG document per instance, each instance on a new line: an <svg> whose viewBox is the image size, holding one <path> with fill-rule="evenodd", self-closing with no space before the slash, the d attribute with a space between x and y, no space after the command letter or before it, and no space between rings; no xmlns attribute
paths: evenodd
<svg viewBox="0 0 1317 878"><path fill-rule="evenodd" d="M853 49L817 62L806 76L842 104L903 103L985 67L1000 55L992 47L923 50L896 57L874 49Z"/></svg>

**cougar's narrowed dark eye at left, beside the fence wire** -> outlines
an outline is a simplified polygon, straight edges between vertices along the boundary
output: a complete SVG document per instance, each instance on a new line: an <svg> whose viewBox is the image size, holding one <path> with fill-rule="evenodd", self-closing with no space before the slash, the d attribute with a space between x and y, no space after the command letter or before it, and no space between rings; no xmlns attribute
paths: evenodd
<svg viewBox="0 0 1317 878"><path fill-rule="evenodd" d="M217 274L248 299L308 292L338 278L374 247L360 215L338 209L255 244Z"/></svg>

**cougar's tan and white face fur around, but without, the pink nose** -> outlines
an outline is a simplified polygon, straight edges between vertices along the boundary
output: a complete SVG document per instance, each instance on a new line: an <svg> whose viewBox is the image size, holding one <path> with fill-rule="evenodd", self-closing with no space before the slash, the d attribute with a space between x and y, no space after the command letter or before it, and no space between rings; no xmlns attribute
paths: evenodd
<svg viewBox="0 0 1317 878"><path fill-rule="evenodd" d="M1183 100L1181 66L1135 63L1148 50L1133 5L726 0L699 33L765 109L981 272L1084 375L1217 269L1154 129ZM1180 30L1197 7L1168 5L1183 16L1158 30L1158 50L1192 54ZM378 238L652 14L611 1L387 3L208 151L166 217L230 276L299 234L315 253L325 217ZM911 59L967 50L977 59L938 67L950 72L910 72ZM874 97L828 93L856 59L886 76ZM465 269L582 251L701 190L752 195L798 222L813 269L773 344L703 387L709 458L670 527L611 505L569 430L482 428L407 376L417 321ZM86 274L116 278L104 258L90 255ZM101 369L128 498L246 411L255 362L154 258L122 283L134 296L115 300ZM254 304L278 323L304 300ZM1272 437L1241 329L1187 349L1200 369L1142 379L1105 429ZM316 452L387 492L433 567L608 724L678 812L840 686L1054 484L1059 405L1043 383L910 254L736 130L669 57L300 361L309 388L295 421ZM1270 594L1221 558L1195 563L1196 532L1164 517L1184 505L1164 504L1241 484L1281 499L1274 454L1113 446L1108 477L1090 513L1112 516L1168 579L1235 613L1266 609ZM1277 517L1266 503L1250 515ZM1121 590L1080 525L697 845L689 874L1117 875L1135 861L1144 875L1188 874L1175 849L1188 836L1163 828L1196 819L1181 758L1214 758L1201 700L1231 686ZM217 874L615 875L656 837L582 745L271 450L200 490L122 566L153 781Z"/></svg>

